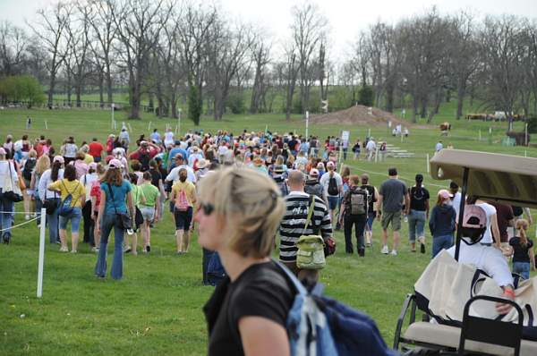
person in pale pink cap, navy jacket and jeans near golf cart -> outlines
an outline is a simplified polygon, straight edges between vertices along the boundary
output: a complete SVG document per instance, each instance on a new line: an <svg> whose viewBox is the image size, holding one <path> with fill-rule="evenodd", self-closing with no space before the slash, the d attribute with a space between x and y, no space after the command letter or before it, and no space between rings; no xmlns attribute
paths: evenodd
<svg viewBox="0 0 537 356"><path fill-rule="evenodd" d="M455 232L455 209L449 204L451 194L445 189L439 190L436 205L430 211L429 228L432 235L432 258L441 250L453 246Z"/></svg>

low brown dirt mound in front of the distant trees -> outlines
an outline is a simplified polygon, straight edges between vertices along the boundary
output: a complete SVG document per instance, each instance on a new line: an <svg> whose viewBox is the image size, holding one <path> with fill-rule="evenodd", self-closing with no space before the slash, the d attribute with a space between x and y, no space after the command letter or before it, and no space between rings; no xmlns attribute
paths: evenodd
<svg viewBox="0 0 537 356"><path fill-rule="evenodd" d="M388 121L392 122L392 127L401 123L404 126L408 126L409 123L405 122L395 114L388 113L387 111L380 110L373 107L370 111L368 106L352 106L346 110L337 111L329 114L317 114L311 115L312 123L328 124L328 123L340 123L340 124L354 124L354 125L366 125L366 126L388 126Z"/></svg>

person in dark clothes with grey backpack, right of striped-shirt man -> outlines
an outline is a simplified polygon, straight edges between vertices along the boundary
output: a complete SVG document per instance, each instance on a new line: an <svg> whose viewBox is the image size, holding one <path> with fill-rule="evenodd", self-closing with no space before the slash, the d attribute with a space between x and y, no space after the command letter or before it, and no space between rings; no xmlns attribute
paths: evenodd
<svg viewBox="0 0 537 356"><path fill-rule="evenodd" d="M343 197L340 223L344 226L345 232L345 252L353 253L353 225L356 236L356 249L358 255L365 256L365 243L363 231L367 223L369 210L369 191L360 186L360 177L351 175L349 177L350 188Z"/></svg>

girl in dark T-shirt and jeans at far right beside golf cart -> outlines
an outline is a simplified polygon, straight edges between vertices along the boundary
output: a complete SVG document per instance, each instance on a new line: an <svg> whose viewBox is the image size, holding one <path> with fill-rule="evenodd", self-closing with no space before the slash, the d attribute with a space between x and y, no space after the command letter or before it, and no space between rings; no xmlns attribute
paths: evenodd
<svg viewBox="0 0 537 356"><path fill-rule="evenodd" d="M513 247L513 273L522 275L524 279L530 278L530 269L535 270L535 255L533 254L533 241L528 239L529 223L526 219L516 221L516 236L509 240Z"/></svg>

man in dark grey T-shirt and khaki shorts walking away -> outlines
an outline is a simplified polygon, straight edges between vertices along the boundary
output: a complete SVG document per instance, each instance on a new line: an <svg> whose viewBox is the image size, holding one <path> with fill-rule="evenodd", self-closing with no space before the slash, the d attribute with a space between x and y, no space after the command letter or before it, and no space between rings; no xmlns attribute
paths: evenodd
<svg viewBox="0 0 537 356"><path fill-rule="evenodd" d="M379 200L377 208L377 218L382 225L382 250L383 254L388 255L388 226L392 225L394 233L394 243L391 250L393 256L397 255L399 246L399 230L401 230L401 213L405 200L405 208L409 207L408 191L406 191L405 182L400 181L397 176L396 168L388 169L388 180L380 185ZM408 214L408 211L405 211Z"/></svg>

